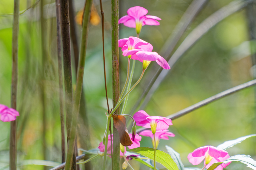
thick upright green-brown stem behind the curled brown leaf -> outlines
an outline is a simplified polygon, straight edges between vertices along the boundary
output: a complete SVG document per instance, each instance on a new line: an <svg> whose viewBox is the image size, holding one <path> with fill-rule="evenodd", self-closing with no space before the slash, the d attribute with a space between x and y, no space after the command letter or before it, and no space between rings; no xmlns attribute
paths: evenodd
<svg viewBox="0 0 256 170"><path fill-rule="evenodd" d="M120 96L119 85L119 25L118 25L118 0L111 0L111 36L112 36L112 85L113 85L113 107L118 103ZM120 114L120 106L111 113ZM119 134L115 126L113 125L113 170L119 170L120 168L120 140Z"/></svg>

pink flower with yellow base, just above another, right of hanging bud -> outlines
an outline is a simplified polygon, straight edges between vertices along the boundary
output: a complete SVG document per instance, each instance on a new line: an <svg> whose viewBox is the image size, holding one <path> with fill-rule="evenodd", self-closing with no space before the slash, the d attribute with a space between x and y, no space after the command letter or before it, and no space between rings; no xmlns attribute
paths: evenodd
<svg viewBox="0 0 256 170"><path fill-rule="evenodd" d="M166 130L172 124L172 120L161 116L150 116L144 110L140 110L133 115L137 126L151 128L153 134L156 130Z"/></svg>

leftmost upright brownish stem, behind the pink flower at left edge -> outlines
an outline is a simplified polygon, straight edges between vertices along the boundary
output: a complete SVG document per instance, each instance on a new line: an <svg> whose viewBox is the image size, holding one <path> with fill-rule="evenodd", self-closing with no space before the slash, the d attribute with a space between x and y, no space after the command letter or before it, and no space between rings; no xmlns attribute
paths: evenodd
<svg viewBox="0 0 256 170"><path fill-rule="evenodd" d="M18 87L18 35L19 35L19 0L14 0L13 37L12 37L12 95L11 108L17 108ZM16 170L17 164L17 120L10 122L10 170Z"/></svg>

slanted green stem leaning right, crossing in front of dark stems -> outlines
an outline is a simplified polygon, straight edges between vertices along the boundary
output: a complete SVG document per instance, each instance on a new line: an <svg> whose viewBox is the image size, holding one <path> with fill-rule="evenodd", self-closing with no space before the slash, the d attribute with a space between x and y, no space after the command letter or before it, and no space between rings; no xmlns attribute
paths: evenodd
<svg viewBox="0 0 256 170"><path fill-rule="evenodd" d="M79 57L79 64L78 64L79 69L77 71L76 91L74 96L74 104L72 108L72 122L71 122L71 128L70 128L70 139L68 143L68 154L67 154L65 170L70 170L71 168L72 155L73 155L74 146L75 146L77 119L78 119L80 99L81 99L82 86L83 86L84 64L86 59L86 47L87 47L87 39L88 39L88 31L89 31L89 23L90 23L89 21L90 21L91 6L92 6L92 0L87 0L84 8L80 57Z"/></svg>

